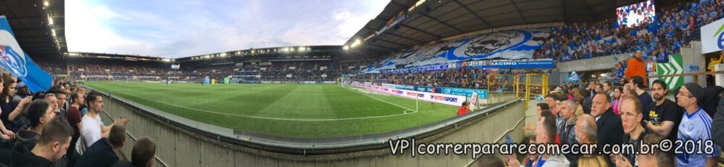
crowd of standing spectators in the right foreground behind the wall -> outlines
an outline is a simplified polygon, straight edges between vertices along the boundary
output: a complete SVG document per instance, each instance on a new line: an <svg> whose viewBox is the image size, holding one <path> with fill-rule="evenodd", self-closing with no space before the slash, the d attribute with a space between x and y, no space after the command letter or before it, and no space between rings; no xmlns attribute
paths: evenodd
<svg viewBox="0 0 724 167"><path fill-rule="evenodd" d="M724 144L724 102L704 102L711 87L686 83L667 90L665 81L654 80L649 95L642 85L639 76L623 87L610 82L562 83L536 105L536 123L523 127L533 132L531 144L597 145L588 153L531 153L523 155L523 162L516 154L505 155L505 160L486 157L476 160L477 166L505 166L503 161L508 166L717 166ZM675 98L665 98L670 91ZM640 152L641 144L662 140L711 141L711 145L706 153L679 148ZM633 145L633 152L610 152L611 147L603 146L622 144Z"/></svg>

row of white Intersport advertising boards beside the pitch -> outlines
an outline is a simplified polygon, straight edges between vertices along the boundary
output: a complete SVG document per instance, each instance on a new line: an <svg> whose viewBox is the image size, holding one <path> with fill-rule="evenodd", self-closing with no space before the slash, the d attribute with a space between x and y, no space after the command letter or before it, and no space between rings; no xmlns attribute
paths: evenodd
<svg viewBox="0 0 724 167"><path fill-rule="evenodd" d="M462 106L463 102L467 100L467 98L463 95L445 95L440 93L426 93L426 92L418 92L415 90L400 90L390 87L382 87L377 85L366 85L359 82L352 82L352 86L354 87L363 87L368 90L376 90L378 92L387 93L390 95L397 95L400 97L405 98L415 98L419 100L425 100L429 102L434 103L443 103L443 104L449 104L452 106Z"/></svg>

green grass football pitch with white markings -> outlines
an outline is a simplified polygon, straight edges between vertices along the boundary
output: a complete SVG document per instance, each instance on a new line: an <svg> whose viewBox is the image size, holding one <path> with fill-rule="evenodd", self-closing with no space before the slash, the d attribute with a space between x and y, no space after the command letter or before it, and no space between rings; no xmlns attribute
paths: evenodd
<svg viewBox="0 0 724 167"><path fill-rule="evenodd" d="M170 114L285 137L340 137L407 129L447 119L455 106L338 85L199 85L88 82Z"/></svg>

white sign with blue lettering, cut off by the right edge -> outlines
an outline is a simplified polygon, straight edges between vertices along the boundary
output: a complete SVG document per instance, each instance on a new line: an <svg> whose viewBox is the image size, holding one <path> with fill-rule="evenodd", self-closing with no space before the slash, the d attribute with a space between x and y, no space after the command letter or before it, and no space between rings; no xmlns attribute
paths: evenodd
<svg viewBox="0 0 724 167"><path fill-rule="evenodd" d="M702 27L702 53L712 53L724 49L724 19Z"/></svg>

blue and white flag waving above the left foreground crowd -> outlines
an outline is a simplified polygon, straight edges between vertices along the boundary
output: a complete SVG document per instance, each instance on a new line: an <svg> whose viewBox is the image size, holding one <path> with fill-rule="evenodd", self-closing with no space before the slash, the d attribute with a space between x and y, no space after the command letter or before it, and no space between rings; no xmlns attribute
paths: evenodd
<svg viewBox="0 0 724 167"><path fill-rule="evenodd" d="M35 65L17 44L7 17L0 16L0 60L2 67L28 85L33 92L49 90L53 77Z"/></svg>

